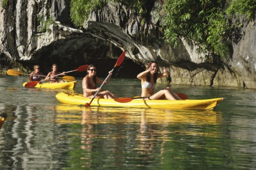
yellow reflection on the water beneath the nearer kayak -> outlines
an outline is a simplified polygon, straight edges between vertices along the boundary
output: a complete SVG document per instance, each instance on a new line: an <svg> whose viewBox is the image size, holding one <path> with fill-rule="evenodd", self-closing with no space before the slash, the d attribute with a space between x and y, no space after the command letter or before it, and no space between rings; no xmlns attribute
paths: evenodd
<svg viewBox="0 0 256 170"><path fill-rule="evenodd" d="M221 120L221 115L213 110L173 111L129 107L84 107L68 104L58 104L55 110L57 112L55 122L58 124L139 123L143 121L149 124L192 123L198 126L199 124L218 124Z"/></svg>

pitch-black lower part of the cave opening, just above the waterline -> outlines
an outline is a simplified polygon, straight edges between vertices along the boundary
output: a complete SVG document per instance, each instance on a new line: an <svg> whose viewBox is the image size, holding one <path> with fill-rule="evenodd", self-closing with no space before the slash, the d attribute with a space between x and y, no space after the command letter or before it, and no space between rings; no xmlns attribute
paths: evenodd
<svg viewBox="0 0 256 170"><path fill-rule="evenodd" d="M107 77L108 72L113 69L113 67L116 64L117 59L86 59L83 61L76 61L70 60L70 59L53 59L51 58L50 60L41 60L37 62L21 62L23 65L26 66L26 68L29 71L29 73L33 70L34 65L40 65L41 67L41 72L44 75L47 75L48 72L51 71L52 64L57 64L58 65L58 71L63 72L63 71L72 71L76 70L79 66L82 65L90 65L93 64L97 67L97 77ZM125 58L123 63L120 66L117 66L114 69L113 78L136 78L138 73L144 71L144 68L141 65L138 65L134 63L131 59ZM74 77L84 77L86 75L86 71L74 71L70 72L67 75L69 76L74 76Z"/></svg>

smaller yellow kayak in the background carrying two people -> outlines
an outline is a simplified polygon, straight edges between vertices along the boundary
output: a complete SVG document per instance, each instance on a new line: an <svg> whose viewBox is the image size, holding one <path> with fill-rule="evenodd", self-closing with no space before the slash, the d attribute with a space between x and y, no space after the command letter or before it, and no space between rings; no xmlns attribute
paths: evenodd
<svg viewBox="0 0 256 170"><path fill-rule="evenodd" d="M23 83L23 87L28 82ZM64 88L64 89L74 89L76 87L77 81L65 82L65 83L37 83L36 88Z"/></svg>

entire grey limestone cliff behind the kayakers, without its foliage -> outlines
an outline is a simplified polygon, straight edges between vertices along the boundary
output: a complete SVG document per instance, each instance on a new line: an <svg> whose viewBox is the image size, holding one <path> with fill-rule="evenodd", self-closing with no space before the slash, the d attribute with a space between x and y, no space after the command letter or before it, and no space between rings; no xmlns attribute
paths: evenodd
<svg viewBox="0 0 256 170"><path fill-rule="evenodd" d="M119 3L109 3L91 12L83 28L70 21L70 1L9 1L0 7L0 69L16 67L31 70L34 64L74 68L91 61L116 60L122 50L134 65L146 66L158 61L160 70L167 67L171 77L159 82L199 86L231 86L256 88L255 24L240 19L243 27L233 43L233 55L224 63L209 63L205 54L197 54L194 46L180 37L180 46L172 48L163 42L159 29L161 4L148 3L148 20ZM54 20L41 31L38 19ZM234 19L235 23L235 19ZM124 66L125 67L125 66ZM131 67L131 65L129 65ZM48 71L48 70L47 70ZM139 72L139 70L137 70Z"/></svg>

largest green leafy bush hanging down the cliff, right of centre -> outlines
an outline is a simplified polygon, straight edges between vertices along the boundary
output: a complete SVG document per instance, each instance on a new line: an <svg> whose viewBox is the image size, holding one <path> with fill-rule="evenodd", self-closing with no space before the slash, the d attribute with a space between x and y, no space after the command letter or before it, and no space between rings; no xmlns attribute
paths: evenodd
<svg viewBox="0 0 256 170"><path fill-rule="evenodd" d="M166 0L164 38L177 46L177 38L194 43L198 52L225 56L232 26L224 15L222 0Z"/></svg>

